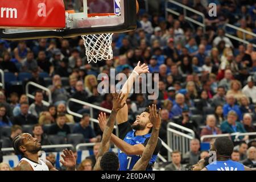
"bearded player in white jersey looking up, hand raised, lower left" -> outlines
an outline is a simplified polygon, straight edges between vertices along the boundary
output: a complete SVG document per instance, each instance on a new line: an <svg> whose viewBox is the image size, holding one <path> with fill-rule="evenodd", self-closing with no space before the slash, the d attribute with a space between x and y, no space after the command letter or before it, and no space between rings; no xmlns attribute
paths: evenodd
<svg viewBox="0 0 256 182"><path fill-rule="evenodd" d="M13 147L17 154L22 155L22 159L15 171L57 171L48 160L40 159L38 152L42 149L38 139L33 138L28 133L22 133L14 138ZM60 160L63 166L69 171L75 171L76 158L71 150L63 150L61 155L64 160Z"/></svg>

